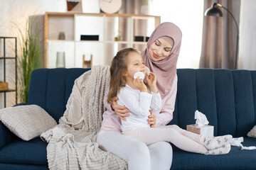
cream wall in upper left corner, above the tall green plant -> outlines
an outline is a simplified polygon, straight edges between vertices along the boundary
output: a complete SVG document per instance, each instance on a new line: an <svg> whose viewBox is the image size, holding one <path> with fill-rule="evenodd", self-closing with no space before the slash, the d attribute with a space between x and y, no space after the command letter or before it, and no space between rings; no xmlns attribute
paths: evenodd
<svg viewBox="0 0 256 170"><path fill-rule="evenodd" d="M66 0L0 0L0 33L16 36L13 23L25 26L28 16L43 15L46 11L65 12Z"/></svg>

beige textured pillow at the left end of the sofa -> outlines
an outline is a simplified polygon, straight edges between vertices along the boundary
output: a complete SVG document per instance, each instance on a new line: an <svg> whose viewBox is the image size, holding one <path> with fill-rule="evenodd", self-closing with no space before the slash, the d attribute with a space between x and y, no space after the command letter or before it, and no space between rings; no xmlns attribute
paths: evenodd
<svg viewBox="0 0 256 170"><path fill-rule="evenodd" d="M57 125L43 108L36 105L0 109L0 120L22 140L31 140Z"/></svg>

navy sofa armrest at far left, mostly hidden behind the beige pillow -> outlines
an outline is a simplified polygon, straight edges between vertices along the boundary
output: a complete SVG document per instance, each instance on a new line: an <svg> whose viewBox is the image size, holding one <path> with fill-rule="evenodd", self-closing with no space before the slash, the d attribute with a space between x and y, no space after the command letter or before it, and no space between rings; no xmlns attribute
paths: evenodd
<svg viewBox="0 0 256 170"><path fill-rule="evenodd" d="M26 105L26 103L18 103L15 106L23 106ZM13 132L11 132L6 126L0 121L0 148L3 147L6 144L9 144L11 141L14 141L17 139L16 135L14 135Z"/></svg>

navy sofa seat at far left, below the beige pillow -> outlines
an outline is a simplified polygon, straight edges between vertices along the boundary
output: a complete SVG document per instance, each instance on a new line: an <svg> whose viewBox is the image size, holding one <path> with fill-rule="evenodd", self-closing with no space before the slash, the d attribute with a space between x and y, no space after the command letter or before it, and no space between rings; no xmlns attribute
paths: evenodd
<svg viewBox="0 0 256 170"><path fill-rule="evenodd" d="M4 164L47 165L47 142L39 137L30 141L16 140L0 149L0 162Z"/></svg>

